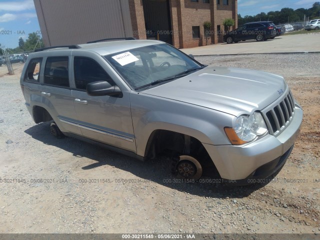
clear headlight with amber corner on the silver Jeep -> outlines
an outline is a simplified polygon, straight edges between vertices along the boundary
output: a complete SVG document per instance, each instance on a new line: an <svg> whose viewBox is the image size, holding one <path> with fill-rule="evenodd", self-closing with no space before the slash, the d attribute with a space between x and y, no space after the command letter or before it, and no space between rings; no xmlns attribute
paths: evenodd
<svg viewBox="0 0 320 240"><path fill-rule="evenodd" d="M224 131L232 144L239 145L252 141L256 136L261 136L268 130L261 113L254 112L252 115L238 116L235 126L225 127Z"/></svg>

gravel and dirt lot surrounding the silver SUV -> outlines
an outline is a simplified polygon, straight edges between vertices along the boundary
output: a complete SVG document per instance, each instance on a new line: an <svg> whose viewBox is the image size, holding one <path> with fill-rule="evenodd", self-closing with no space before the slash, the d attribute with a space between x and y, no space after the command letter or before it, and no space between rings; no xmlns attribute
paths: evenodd
<svg viewBox="0 0 320 240"><path fill-rule="evenodd" d="M35 124L0 67L1 233L320 233L320 54L203 56L202 63L284 75L301 133L266 185L173 183L165 159L140 162ZM171 183L168 181L171 180Z"/></svg>

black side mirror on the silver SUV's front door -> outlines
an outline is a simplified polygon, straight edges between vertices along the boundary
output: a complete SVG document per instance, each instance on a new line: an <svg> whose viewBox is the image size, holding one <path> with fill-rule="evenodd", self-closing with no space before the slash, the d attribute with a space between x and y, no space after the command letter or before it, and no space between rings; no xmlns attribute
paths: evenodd
<svg viewBox="0 0 320 240"><path fill-rule="evenodd" d="M122 92L118 86L111 86L107 81L94 81L86 85L86 93L90 96L118 96Z"/></svg>

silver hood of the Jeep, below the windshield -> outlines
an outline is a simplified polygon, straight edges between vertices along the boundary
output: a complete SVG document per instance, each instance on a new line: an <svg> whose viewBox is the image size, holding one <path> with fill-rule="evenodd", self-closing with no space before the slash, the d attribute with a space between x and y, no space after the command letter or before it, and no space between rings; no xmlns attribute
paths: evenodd
<svg viewBox="0 0 320 240"><path fill-rule="evenodd" d="M279 98L287 85L282 76L263 71L205 67L171 82L141 91L203 106L235 116L261 110Z"/></svg>

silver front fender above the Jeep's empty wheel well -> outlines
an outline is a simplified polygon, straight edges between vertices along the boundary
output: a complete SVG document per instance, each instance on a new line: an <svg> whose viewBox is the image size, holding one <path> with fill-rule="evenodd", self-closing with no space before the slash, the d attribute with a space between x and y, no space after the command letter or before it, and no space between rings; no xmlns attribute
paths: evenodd
<svg viewBox="0 0 320 240"><path fill-rule="evenodd" d="M202 106L132 92L131 114L138 155L144 156L149 136L162 129L187 134L202 143L228 145L224 126L233 115Z"/></svg>

